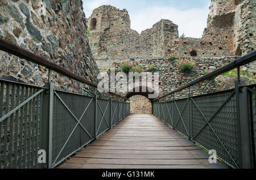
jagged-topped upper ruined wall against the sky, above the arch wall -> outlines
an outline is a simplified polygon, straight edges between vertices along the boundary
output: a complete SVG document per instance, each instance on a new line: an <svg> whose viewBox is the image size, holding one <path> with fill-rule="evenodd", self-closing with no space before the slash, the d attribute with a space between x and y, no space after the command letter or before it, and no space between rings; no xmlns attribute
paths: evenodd
<svg viewBox="0 0 256 180"><path fill-rule="evenodd" d="M203 36L191 38L179 37L168 19L138 34L130 28L127 10L100 6L87 20L88 26L96 25L89 43L96 59L241 56L255 50L255 7L251 0L212 0Z"/></svg>

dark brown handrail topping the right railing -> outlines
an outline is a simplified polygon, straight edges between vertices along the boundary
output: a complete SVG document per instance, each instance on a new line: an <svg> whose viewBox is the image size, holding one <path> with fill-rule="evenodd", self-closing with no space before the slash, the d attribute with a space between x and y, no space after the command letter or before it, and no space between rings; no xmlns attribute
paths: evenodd
<svg viewBox="0 0 256 180"><path fill-rule="evenodd" d="M205 74L204 76L202 76L202 77L200 77L200 78L198 78L198 79L196 79L192 82L189 82L186 85L184 85L182 87L179 87L178 89L176 89L174 91L171 91L170 93L167 93L167 94L164 94L164 95L162 95L158 98L155 98L155 99L153 99L153 101L156 101L158 99L167 97L167 95L171 95L171 94L174 94L176 92L182 91L182 90L184 90L184 89L186 89L190 86L196 85L199 82L205 81L206 79L216 77L220 74L228 72L229 70L238 68L242 65L248 64L248 63L253 62L255 60L256 60L256 50L247 54L247 55L245 55L245 56L242 56L242 57L238 58L237 60L234 60L233 62L230 62L229 64L223 66L222 68L218 68L218 69L214 70L213 72L210 72L209 74Z"/></svg>

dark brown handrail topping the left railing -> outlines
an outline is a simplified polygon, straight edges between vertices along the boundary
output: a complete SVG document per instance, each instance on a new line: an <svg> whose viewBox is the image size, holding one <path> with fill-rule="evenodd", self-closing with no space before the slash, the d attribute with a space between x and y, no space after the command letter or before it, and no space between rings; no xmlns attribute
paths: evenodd
<svg viewBox="0 0 256 180"><path fill-rule="evenodd" d="M98 87L97 83L91 82L86 80L85 78L82 78L80 76L77 76L76 74L69 72L67 69L62 68L61 66L55 64L54 62L48 61L45 58L36 55L35 53L32 53L30 51L27 51L26 49L23 49L19 47L18 45L15 45L13 43L10 43L9 41L3 40L0 38L0 50L5 51L7 53L10 53L12 55L18 56L20 58L23 58L27 61L34 62L35 64L44 66L48 69L53 70L56 73L62 74L65 77L74 79L76 81L79 81L81 83L85 83L86 85L90 85L93 87ZM118 96L120 98L126 99L129 101L129 99L123 97L122 95L115 94L112 92L109 92L109 94Z"/></svg>

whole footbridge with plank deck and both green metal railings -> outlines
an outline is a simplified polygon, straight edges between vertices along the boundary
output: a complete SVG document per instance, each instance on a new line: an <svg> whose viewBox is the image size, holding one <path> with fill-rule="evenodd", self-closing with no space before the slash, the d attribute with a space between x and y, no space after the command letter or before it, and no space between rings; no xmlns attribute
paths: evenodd
<svg viewBox="0 0 256 180"><path fill-rule="evenodd" d="M0 50L97 89L3 39ZM129 99L115 93L100 99L55 90L51 78L44 87L0 79L0 169L226 168L209 161L213 156L231 168L255 168L256 85L240 78L240 66L255 59L256 51L152 99L152 115L130 114ZM235 68L235 89L190 94L191 86ZM176 99L184 89L188 97Z"/></svg>

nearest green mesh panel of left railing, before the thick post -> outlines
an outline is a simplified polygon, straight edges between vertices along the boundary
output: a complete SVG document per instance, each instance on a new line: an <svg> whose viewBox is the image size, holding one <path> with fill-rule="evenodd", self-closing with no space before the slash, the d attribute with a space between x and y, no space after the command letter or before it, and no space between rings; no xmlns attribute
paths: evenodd
<svg viewBox="0 0 256 180"><path fill-rule="evenodd" d="M40 168L44 90L0 79L0 168Z"/></svg>

